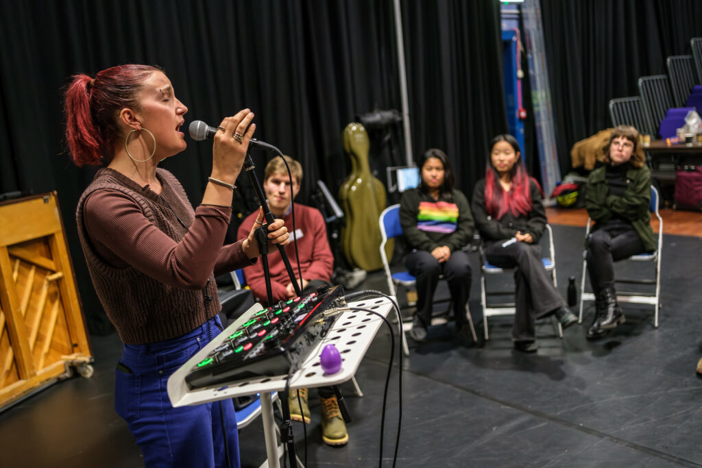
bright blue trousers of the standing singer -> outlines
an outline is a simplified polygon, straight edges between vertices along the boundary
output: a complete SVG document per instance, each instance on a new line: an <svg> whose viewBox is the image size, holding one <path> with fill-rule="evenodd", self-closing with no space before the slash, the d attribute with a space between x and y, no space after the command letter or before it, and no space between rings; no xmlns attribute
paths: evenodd
<svg viewBox="0 0 702 468"><path fill-rule="evenodd" d="M232 400L173 408L166 392L168 377L220 330L216 316L172 340L124 345L114 409L126 420L146 467L227 467L225 441L232 467L239 467Z"/></svg>

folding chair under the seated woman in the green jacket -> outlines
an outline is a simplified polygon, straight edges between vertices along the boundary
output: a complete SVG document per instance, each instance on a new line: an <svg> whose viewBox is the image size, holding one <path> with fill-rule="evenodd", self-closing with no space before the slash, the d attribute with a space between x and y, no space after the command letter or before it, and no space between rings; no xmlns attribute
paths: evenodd
<svg viewBox="0 0 702 468"><path fill-rule="evenodd" d="M654 306L655 316L654 316L654 326L658 328L658 310L661 309L661 247L663 246L663 219L658 213L658 190L656 187L651 185L651 203L649 203L649 210L654 213L656 218L658 218L658 248L654 253L642 253L640 255L633 255L628 259L623 261L633 261L633 262L654 262L655 268L655 278L654 279L615 279L615 283L626 283L626 284L649 284L654 286L653 293L631 293L626 291L620 291L617 289L616 300L618 302L629 302L633 304L649 304ZM590 235L590 218L588 218L588 224L585 226L585 239L588 239ZM586 300L594 301L595 295L593 293L585 293L585 276L588 272L588 260L587 260L587 250L583 251L583 276L580 284L580 312L578 314L578 322L583 323L583 302Z"/></svg>

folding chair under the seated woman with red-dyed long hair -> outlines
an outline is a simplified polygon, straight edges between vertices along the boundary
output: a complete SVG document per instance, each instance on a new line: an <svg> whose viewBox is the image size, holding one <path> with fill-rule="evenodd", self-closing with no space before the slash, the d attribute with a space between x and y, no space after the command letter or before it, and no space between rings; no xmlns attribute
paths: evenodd
<svg viewBox="0 0 702 468"><path fill-rule="evenodd" d="M548 257L542 258L541 262L543 262L543 267L546 269L547 272L551 274L551 278L553 279L553 286L558 286L557 279L556 279L556 255L555 255L555 249L553 248L553 231L550 227L550 225L546 225L546 230L545 230L545 236L543 236L545 239L548 240ZM482 309L483 309L483 329L485 332L485 340L489 339L488 336L488 331L487 331L487 319L488 317L492 316L497 316L497 315L514 315L516 312L516 305L514 302L502 302L502 303L495 303L487 302L487 298L489 296L498 296L498 295L508 295L512 294L513 291L489 291L487 289L487 281L486 277L491 276L491 275L497 275L497 274L514 274L515 268L500 268L496 267L494 265L491 265L486 259L485 259L485 253L482 248L482 245L480 247L480 302L482 304ZM536 292L535 292L536 293ZM557 333L559 337L563 337L563 328L561 326L561 323L557 321Z"/></svg>

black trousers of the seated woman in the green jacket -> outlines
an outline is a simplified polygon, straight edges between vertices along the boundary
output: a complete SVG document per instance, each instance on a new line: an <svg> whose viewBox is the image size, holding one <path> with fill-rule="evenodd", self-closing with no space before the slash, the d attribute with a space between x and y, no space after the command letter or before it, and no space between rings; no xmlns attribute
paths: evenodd
<svg viewBox="0 0 702 468"><path fill-rule="evenodd" d="M604 288L614 289L614 262L644 253L644 244L631 225L609 222L588 238L588 276L595 297Z"/></svg>

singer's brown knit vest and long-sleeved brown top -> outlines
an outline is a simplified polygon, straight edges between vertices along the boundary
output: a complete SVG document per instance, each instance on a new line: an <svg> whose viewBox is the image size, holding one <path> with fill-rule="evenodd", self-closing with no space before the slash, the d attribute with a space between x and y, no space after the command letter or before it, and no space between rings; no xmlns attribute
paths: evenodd
<svg viewBox="0 0 702 468"><path fill-rule="evenodd" d="M102 307L128 345L168 340L221 309L214 273L251 265L241 241L221 247L231 209L193 210L157 169L158 195L110 168L78 202L78 234Z"/></svg>

